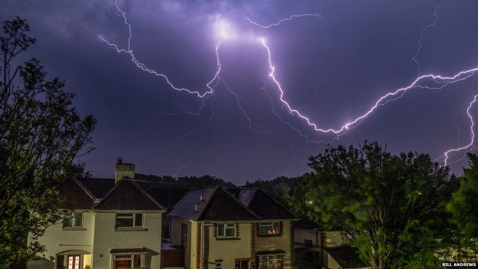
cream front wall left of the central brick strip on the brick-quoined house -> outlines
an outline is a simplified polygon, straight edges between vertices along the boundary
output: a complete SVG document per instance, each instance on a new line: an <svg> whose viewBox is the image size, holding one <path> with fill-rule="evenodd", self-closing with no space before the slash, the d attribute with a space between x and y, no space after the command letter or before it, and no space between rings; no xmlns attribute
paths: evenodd
<svg viewBox="0 0 478 269"><path fill-rule="evenodd" d="M223 268L235 268L236 259L249 259L251 256L251 223L236 223L239 227L239 239L220 240L215 237L214 224L204 226L205 257L207 269L215 268L215 261L222 260Z"/></svg>

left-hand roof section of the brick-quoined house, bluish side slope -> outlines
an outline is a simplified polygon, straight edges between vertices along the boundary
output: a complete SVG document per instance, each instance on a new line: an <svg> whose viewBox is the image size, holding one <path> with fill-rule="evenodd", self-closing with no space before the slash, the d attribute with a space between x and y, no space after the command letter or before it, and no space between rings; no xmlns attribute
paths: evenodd
<svg viewBox="0 0 478 269"><path fill-rule="evenodd" d="M259 216L222 187L191 189L168 215L189 220L259 220Z"/></svg>

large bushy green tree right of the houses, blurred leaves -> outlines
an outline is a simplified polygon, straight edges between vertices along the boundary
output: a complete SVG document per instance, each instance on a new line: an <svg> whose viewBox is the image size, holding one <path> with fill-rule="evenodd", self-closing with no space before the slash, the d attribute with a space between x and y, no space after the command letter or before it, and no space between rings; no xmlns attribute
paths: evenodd
<svg viewBox="0 0 478 269"><path fill-rule="evenodd" d="M427 154L392 155L377 142L311 157L297 184L299 214L339 229L374 269L433 268L453 232L445 213L457 179Z"/></svg>

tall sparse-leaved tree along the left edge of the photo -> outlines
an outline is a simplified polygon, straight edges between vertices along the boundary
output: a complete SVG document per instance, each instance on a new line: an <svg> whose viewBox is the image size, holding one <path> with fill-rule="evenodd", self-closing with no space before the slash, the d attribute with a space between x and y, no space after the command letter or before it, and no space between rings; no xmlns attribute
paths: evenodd
<svg viewBox="0 0 478 269"><path fill-rule="evenodd" d="M0 268L45 249L36 239L61 216L53 187L80 150L93 149L87 145L96 124L72 107L64 81L46 80L39 60L12 66L35 43L28 31L17 17L0 35Z"/></svg>

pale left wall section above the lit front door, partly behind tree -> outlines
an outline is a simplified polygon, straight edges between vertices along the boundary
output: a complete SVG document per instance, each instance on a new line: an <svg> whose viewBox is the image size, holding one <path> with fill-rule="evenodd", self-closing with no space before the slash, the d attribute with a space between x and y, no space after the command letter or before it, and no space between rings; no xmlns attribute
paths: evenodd
<svg viewBox="0 0 478 269"><path fill-rule="evenodd" d="M83 212L83 230L64 230L63 223L49 226L45 235L38 239L38 242L45 245L47 251L40 255L39 260L27 262L28 269L54 269L56 255L66 251L76 250L78 253L92 252L92 235L94 230L94 214L91 211ZM72 253L70 253L72 254Z"/></svg>

